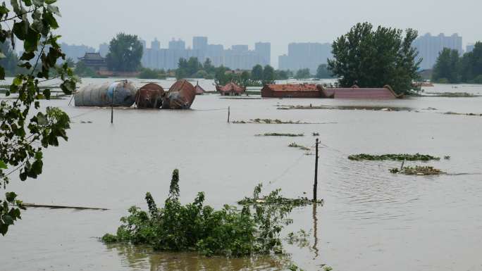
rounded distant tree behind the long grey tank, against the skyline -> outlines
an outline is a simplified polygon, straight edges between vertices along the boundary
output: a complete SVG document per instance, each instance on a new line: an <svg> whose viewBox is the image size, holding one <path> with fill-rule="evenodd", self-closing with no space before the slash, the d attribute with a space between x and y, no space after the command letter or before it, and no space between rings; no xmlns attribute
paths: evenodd
<svg viewBox="0 0 482 271"><path fill-rule="evenodd" d="M113 71L135 72L141 67L142 44L133 34L116 34L109 44L107 66Z"/></svg>

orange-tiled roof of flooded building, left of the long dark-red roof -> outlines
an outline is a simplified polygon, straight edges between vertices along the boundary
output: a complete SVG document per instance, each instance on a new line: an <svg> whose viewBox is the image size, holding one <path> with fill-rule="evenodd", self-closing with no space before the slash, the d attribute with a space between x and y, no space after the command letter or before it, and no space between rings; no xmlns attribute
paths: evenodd
<svg viewBox="0 0 482 271"><path fill-rule="evenodd" d="M266 84L261 97L271 98L321 98L316 84Z"/></svg>

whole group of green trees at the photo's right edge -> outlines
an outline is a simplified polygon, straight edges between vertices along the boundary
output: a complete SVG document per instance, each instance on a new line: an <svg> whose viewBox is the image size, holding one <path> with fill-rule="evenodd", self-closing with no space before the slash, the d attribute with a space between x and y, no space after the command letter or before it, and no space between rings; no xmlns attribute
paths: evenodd
<svg viewBox="0 0 482 271"><path fill-rule="evenodd" d="M453 49L440 51L433 66L432 81L482 84L482 42L477 42L474 50L463 56Z"/></svg>

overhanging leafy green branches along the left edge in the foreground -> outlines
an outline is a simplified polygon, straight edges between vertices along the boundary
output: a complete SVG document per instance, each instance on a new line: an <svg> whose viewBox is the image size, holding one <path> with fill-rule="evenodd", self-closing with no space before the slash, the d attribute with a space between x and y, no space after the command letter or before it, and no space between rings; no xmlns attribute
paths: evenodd
<svg viewBox="0 0 482 271"><path fill-rule="evenodd" d="M21 181L37 178L42 173L43 150L58 146L58 138L67 140L66 130L70 119L59 108L40 110L41 98L50 98L50 89L39 88L46 82L50 70L56 69L62 81L61 89L66 94L75 90L78 80L73 70L63 63L56 68L59 58L66 55L58 44L60 36L53 33L58 28L56 16L60 15L56 0L11 0L11 6L0 6L0 42L16 39L23 42L23 54L19 66L24 72L17 73L6 96L15 94L16 99L0 101L0 190L7 189L10 177L18 173ZM3 49L3 48L1 48ZM3 55L8 52L1 52ZM2 63L3 64L3 63ZM0 80L5 79L5 67L0 67ZM33 111L33 112L32 112ZM3 193L1 193L3 194ZM25 210L15 192L6 192L0 199L0 234L20 219Z"/></svg>

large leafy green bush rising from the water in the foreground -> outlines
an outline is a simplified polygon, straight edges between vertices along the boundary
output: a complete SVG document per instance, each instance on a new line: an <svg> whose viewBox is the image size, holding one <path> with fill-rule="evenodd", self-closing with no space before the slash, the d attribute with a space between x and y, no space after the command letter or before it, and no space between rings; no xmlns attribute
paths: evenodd
<svg viewBox="0 0 482 271"><path fill-rule="evenodd" d="M130 215L116 234L105 234L105 243L130 243L152 246L160 251L198 251L207 256L247 256L282 253L280 232L292 220L292 206L244 205L242 210L225 205L221 210L204 206L204 193L194 202L182 205L179 201L179 172L174 170L169 196L163 208L158 208L150 193L146 194L148 210L132 206ZM261 185L254 189L259 198ZM266 199L280 201L280 189Z"/></svg>

